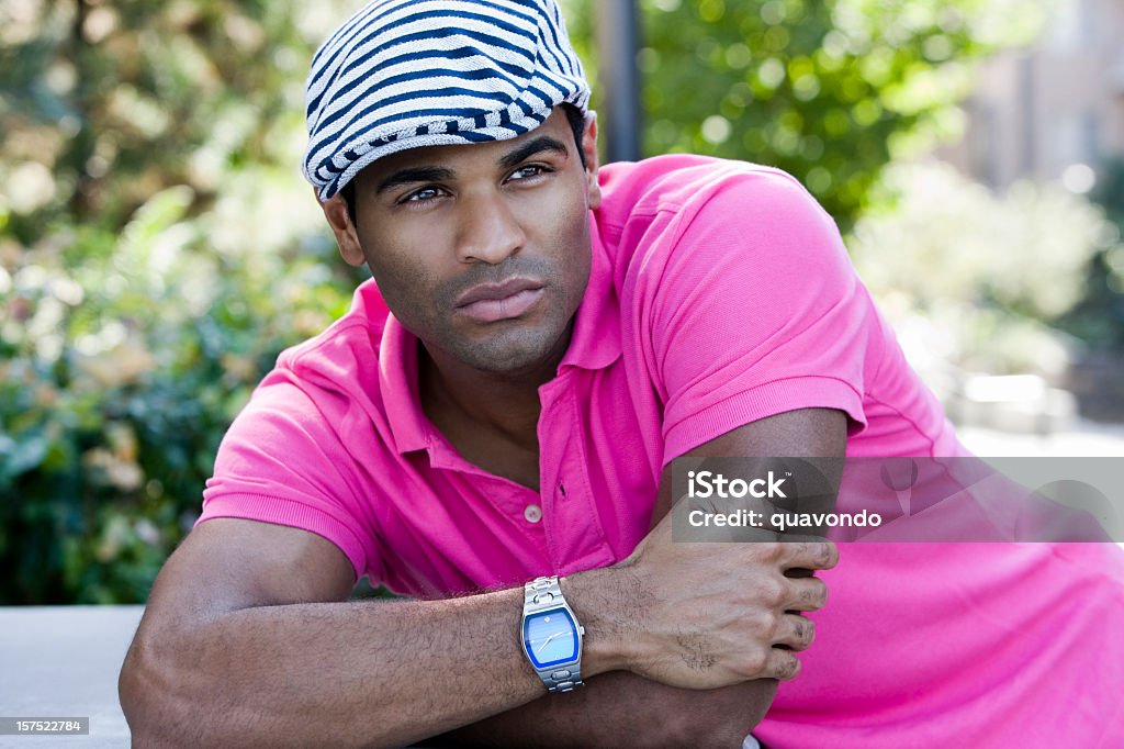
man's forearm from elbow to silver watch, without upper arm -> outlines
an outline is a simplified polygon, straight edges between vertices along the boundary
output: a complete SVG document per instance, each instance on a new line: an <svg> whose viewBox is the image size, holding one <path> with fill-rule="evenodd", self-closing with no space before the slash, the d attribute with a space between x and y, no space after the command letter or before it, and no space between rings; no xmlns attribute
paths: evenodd
<svg viewBox="0 0 1124 749"><path fill-rule="evenodd" d="M143 624L123 705L140 746L401 746L542 694L518 639L522 605L515 589ZM590 673L613 668L591 635Z"/></svg>

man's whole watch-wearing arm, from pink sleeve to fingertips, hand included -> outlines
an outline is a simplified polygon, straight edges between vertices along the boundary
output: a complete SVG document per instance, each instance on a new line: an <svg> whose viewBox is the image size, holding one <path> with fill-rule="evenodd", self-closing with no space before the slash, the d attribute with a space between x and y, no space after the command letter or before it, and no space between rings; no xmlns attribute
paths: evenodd
<svg viewBox="0 0 1124 749"><path fill-rule="evenodd" d="M672 544L664 520L620 565L563 580L587 628L583 670L688 689L791 678L787 649L806 648L812 626L787 612L818 608L825 589L785 571L835 559L831 544ZM542 694L519 641L522 590L348 603L353 577L305 531L196 529L161 571L121 671L136 743L400 746ZM598 743L597 724L578 727Z"/></svg>

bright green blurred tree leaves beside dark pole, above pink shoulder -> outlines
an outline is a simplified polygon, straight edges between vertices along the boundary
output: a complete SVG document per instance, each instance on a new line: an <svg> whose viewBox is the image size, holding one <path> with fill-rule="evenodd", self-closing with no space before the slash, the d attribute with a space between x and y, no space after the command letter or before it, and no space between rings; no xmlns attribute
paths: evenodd
<svg viewBox="0 0 1124 749"><path fill-rule="evenodd" d="M891 157L960 135L972 63L1032 39L1052 0L640 4L645 152L780 166L846 232ZM570 17L587 37L588 10Z"/></svg>

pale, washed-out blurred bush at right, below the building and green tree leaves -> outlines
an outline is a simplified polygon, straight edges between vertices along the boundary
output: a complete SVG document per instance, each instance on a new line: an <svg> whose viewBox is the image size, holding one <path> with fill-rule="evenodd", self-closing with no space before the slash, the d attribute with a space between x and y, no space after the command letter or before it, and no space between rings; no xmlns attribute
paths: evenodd
<svg viewBox="0 0 1124 749"><path fill-rule="evenodd" d="M1062 322L1093 299L1090 263L1124 260L1099 206L1055 184L997 193L939 162L891 165L880 189L892 209L860 218L850 249L914 367L1057 380L1080 357ZM1107 279L1122 282L1124 262Z"/></svg>

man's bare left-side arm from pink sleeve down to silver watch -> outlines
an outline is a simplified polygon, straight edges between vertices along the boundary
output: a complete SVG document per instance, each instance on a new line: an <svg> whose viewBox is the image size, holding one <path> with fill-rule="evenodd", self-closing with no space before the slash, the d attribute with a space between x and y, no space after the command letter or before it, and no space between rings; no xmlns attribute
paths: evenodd
<svg viewBox="0 0 1124 749"><path fill-rule="evenodd" d="M311 533L201 524L161 571L121 671L135 742L399 746L542 689L510 625L520 590L346 602L353 581Z"/></svg>

